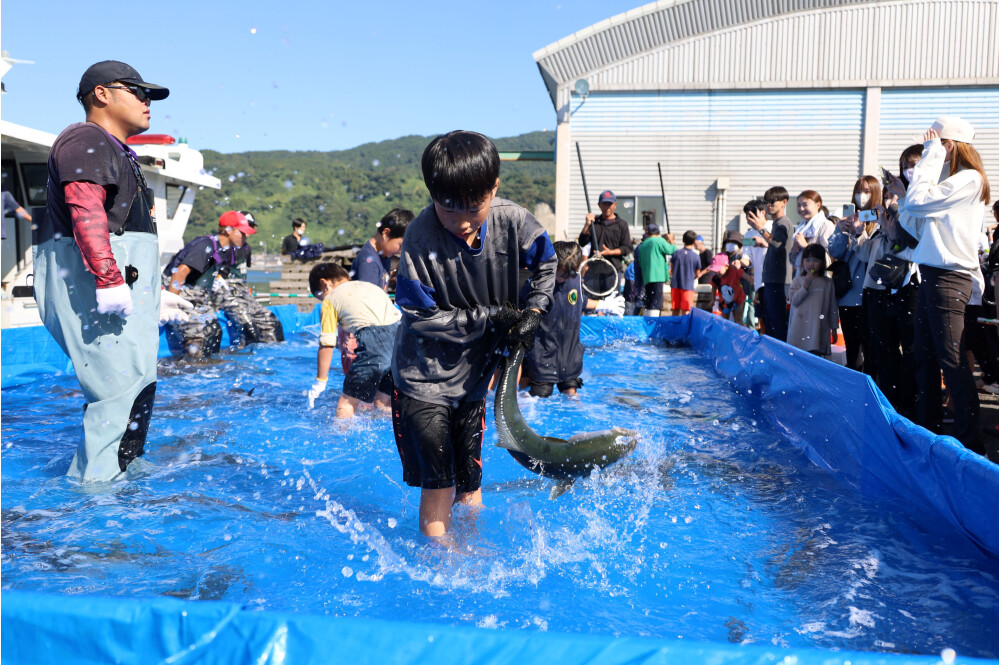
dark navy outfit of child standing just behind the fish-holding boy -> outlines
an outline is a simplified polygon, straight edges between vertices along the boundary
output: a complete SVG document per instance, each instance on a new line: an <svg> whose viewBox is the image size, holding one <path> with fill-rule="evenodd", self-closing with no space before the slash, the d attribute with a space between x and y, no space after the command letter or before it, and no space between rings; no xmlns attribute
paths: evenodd
<svg viewBox="0 0 1000 665"><path fill-rule="evenodd" d="M533 383L563 383L579 378L583 372L580 320L587 296L582 285L579 275L562 283L556 281L552 309L538 324L535 348L524 356ZM527 297L530 289L531 282L525 282L521 293Z"/></svg>

